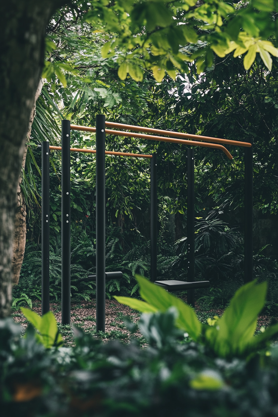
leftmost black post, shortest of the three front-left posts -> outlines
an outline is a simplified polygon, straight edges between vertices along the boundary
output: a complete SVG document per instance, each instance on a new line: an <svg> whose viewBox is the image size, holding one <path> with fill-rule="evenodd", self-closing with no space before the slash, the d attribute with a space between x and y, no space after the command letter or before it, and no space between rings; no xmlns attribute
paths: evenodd
<svg viewBox="0 0 278 417"><path fill-rule="evenodd" d="M49 142L42 142L42 315L49 311Z"/></svg>

